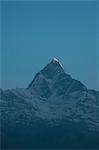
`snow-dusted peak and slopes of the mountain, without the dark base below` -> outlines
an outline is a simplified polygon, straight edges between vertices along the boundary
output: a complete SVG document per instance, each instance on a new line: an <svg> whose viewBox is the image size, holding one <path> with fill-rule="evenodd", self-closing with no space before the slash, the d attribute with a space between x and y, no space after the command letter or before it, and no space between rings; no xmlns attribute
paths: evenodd
<svg viewBox="0 0 99 150"><path fill-rule="evenodd" d="M99 134L99 92L66 74L56 58L36 74L27 88L0 93L3 125L30 127L42 120L55 127L71 122L84 124L88 131Z"/></svg>

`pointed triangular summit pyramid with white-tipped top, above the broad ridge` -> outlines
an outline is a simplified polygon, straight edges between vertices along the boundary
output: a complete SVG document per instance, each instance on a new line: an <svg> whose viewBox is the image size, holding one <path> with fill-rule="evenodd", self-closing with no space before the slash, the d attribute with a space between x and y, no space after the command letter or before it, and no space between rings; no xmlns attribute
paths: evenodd
<svg viewBox="0 0 99 150"><path fill-rule="evenodd" d="M66 74L60 62L54 58L40 72L38 72L28 89L37 95L48 98L53 95L66 95L74 91L86 90L80 82Z"/></svg>

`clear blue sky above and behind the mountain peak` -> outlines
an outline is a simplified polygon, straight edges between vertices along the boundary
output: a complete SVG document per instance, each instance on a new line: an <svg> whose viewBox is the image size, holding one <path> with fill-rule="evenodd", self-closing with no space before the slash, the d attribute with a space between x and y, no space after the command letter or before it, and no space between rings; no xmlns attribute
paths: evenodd
<svg viewBox="0 0 99 150"><path fill-rule="evenodd" d="M98 84L97 2L2 2L2 88L27 87L53 57L88 88Z"/></svg>

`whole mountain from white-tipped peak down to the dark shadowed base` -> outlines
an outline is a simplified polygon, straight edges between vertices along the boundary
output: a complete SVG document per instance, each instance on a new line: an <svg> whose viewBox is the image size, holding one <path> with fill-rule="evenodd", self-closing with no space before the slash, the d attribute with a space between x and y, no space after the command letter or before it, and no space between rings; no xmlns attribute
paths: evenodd
<svg viewBox="0 0 99 150"><path fill-rule="evenodd" d="M99 92L54 58L27 88L0 89L1 147L99 148Z"/></svg>

